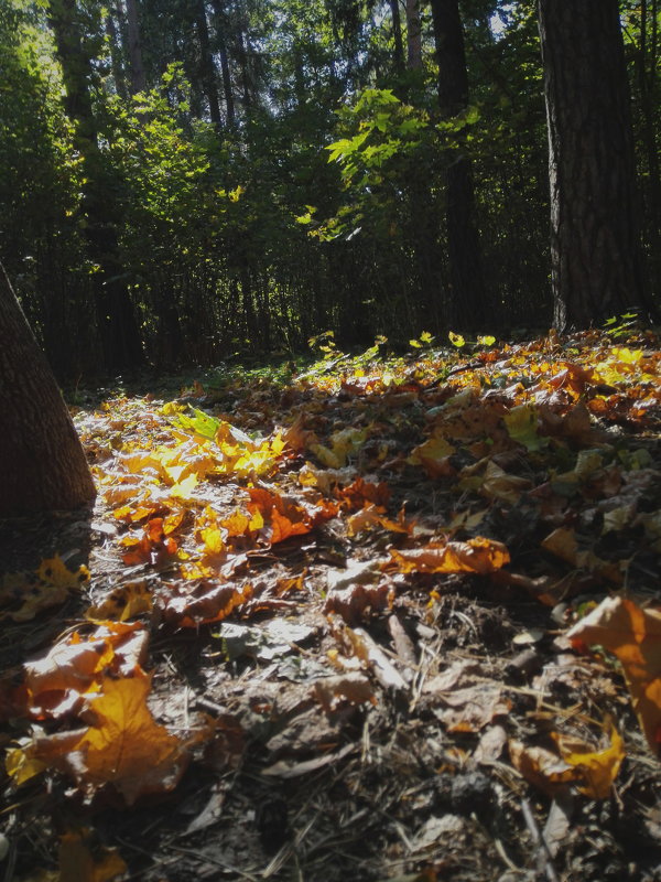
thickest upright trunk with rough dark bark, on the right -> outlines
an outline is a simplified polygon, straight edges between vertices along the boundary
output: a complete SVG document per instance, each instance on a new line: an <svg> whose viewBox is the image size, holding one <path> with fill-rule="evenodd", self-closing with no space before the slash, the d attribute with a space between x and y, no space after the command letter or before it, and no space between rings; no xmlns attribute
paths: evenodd
<svg viewBox="0 0 661 882"><path fill-rule="evenodd" d="M643 304L633 144L617 0L539 0L549 123L554 324Z"/></svg>

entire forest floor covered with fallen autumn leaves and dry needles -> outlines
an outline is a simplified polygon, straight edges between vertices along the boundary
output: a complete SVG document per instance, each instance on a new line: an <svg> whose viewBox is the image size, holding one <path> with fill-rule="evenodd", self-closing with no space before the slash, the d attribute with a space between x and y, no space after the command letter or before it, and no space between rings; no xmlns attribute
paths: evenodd
<svg viewBox="0 0 661 882"><path fill-rule="evenodd" d="M0 880L661 880L658 337L326 342L77 390L94 508L0 525Z"/></svg>

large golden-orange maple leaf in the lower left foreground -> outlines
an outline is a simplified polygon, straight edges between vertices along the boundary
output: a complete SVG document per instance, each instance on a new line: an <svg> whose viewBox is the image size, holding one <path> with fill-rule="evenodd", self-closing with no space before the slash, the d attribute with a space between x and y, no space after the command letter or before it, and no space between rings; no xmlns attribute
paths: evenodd
<svg viewBox="0 0 661 882"><path fill-rule="evenodd" d="M132 805L140 796L172 790L186 765L186 743L159 725L147 707L151 677L106 677L89 702L94 724L85 732L36 741L35 759L69 774L85 792L112 784Z"/></svg>

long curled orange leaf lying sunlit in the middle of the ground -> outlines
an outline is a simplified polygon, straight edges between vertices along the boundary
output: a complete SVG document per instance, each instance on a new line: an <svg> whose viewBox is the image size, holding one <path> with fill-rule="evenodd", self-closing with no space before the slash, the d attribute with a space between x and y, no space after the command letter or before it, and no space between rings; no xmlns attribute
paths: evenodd
<svg viewBox="0 0 661 882"><path fill-rule="evenodd" d="M422 548L390 549L400 572L495 572L510 556L502 542L478 536L466 542L430 542Z"/></svg>

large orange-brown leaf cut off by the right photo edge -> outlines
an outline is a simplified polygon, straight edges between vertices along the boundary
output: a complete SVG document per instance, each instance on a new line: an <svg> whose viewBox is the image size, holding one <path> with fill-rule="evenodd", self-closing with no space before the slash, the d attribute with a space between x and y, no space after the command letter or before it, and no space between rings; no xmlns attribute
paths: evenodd
<svg viewBox="0 0 661 882"><path fill-rule="evenodd" d="M576 647L596 644L617 656L640 727L661 757L661 611L607 598L566 636Z"/></svg>

